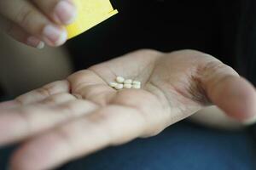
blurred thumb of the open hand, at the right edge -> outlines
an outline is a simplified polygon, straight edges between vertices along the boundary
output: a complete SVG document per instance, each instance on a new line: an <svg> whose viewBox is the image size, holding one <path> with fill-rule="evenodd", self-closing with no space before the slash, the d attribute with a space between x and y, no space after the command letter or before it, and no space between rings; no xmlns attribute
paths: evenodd
<svg viewBox="0 0 256 170"><path fill-rule="evenodd" d="M256 122L256 91L253 85L230 66L216 60L211 62L202 77L208 98L228 116L240 122Z"/></svg>

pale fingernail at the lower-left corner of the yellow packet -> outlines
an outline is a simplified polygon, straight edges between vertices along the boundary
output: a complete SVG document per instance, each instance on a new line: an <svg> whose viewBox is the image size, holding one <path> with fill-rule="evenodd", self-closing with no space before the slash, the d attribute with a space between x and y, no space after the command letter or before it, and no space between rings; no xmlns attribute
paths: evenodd
<svg viewBox="0 0 256 170"><path fill-rule="evenodd" d="M60 46L67 41L67 31L55 26L45 26L43 35L44 41L50 46Z"/></svg>

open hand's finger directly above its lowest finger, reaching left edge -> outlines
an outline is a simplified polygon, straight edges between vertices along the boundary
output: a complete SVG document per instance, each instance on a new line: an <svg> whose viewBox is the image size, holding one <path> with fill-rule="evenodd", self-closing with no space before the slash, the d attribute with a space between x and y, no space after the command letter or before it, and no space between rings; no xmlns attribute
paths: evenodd
<svg viewBox="0 0 256 170"><path fill-rule="evenodd" d="M75 99L71 94L56 94L42 104L5 111L0 115L0 145L26 139L96 108L91 102Z"/></svg>

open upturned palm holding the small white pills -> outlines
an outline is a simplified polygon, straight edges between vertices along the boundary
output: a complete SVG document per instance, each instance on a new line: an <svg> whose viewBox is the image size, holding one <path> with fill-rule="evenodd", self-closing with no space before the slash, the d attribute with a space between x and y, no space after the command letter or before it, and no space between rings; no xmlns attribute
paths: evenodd
<svg viewBox="0 0 256 170"><path fill-rule="evenodd" d="M143 88L116 91L108 87L116 76ZM246 121L255 116L255 102L253 86L218 59L190 50L142 50L3 103L0 144L24 141L12 169L49 169L153 136L207 105Z"/></svg>

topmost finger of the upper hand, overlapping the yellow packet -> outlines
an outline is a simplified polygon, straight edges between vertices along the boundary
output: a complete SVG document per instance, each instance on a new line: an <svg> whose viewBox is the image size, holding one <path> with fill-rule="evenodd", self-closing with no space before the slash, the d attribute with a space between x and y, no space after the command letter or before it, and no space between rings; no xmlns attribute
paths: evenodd
<svg viewBox="0 0 256 170"><path fill-rule="evenodd" d="M49 19L61 25L68 25L75 20L77 9L72 0L32 0Z"/></svg>

